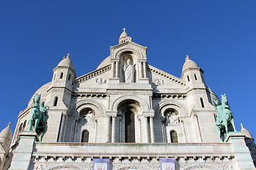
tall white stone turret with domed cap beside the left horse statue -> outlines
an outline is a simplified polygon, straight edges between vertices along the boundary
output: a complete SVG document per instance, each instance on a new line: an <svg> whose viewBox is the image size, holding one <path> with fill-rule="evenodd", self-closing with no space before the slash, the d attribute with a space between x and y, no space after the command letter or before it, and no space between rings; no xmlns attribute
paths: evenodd
<svg viewBox="0 0 256 170"><path fill-rule="evenodd" d="M47 91L46 106L49 106L48 130L43 141L58 142L58 129L63 114L70 108L73 80L76 78L75 67L70 55L63 57L57 67L53 69L53 80Z"/></svg>

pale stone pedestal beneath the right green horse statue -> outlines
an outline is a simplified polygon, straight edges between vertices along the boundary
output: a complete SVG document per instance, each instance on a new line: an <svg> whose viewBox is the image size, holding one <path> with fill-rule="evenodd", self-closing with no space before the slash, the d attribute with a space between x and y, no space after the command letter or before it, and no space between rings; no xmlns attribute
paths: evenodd
<svg viewBox="0 0 256 170"><path fill-rule="evenodd" d="M241 132L229 132L225 142L232 143L235 159L240 170L255 169L248 147L245 145L245 135Z"/></svg>

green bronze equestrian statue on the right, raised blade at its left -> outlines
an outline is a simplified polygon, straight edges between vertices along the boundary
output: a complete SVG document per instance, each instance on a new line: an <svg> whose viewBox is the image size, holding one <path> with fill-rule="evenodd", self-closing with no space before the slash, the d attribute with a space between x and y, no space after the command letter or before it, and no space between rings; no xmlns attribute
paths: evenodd
<svg viewBox="0 0 256 170"><path fill-rule="evenodd" d="M223 142L223 140L228 136L228 132L237 132L235 130L234 115L230 110L228 97L225 96L225 94L221 95L221 102L219 99L214 102L210 91L210 98L215 110L217 110L215 130L220 141Z"/></svg>

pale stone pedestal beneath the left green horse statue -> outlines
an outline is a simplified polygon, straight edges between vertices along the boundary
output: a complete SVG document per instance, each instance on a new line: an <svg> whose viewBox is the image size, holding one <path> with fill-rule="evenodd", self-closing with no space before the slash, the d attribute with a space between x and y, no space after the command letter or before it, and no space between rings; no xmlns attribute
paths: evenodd
<svg viewBox="0 0 256 170"><path fill-rule="evenodd" d="M14 152L14 159L9 170L29 169L34 144L39 141L36 132L22 132L20 137L21 140Z"/></svg>

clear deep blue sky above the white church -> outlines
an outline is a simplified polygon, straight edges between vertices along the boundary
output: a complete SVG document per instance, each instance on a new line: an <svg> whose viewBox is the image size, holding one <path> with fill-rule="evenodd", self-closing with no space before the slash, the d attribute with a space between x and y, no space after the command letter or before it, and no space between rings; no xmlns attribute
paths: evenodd
<svg viewBox="0 0 256 170"><path fill-rule="evenodd" d="M176 77L186 55L207 86L226 94L240 123L255 132L256 1L1 1L0 129L70 53L77 77L97 68L122 28L148 47L149 64Z"/></svg>

